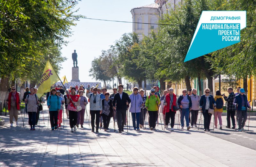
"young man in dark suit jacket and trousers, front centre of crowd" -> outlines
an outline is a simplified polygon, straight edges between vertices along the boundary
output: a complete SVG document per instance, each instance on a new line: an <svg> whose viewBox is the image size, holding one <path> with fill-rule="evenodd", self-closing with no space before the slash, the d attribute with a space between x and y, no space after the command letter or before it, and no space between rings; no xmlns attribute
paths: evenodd
<svg viewBox="0 0 256 167"><path fill-rule="evenodd" d="M131 99L128 94L123 92L124 86L118 85L118 93L115 94L112 105L117 115L117 125L119 133L124 131L124 124L126 120L127 105L131 103Z"/></svg>

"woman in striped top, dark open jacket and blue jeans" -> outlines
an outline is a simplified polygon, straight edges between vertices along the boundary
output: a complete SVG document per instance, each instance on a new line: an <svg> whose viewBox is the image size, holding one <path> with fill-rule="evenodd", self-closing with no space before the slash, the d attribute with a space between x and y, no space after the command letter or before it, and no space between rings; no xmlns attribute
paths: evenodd
<svg viewBox="0 0 256 167"><path fill-rule="evenodd" d="M178 99L178 105L180 107L180 123L181 123L181 129L184 129L184 116L186 119L186 126L187 130L190 129L189 126L189 111L192 107L192 101L190 96L187 94L187 90L183 89L182 95Z"/></svg>

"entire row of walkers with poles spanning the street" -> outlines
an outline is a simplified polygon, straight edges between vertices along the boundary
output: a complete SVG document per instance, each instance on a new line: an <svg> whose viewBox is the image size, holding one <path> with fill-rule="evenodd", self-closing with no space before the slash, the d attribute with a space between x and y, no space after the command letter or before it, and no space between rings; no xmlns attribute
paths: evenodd
<svg viewBox="0 0 256 167"><path fill-rule="evenodd" d="M10 123L13 126L13 117L18 126L18 111L20 110L20 94L16 88L12 86L12 91L8 96L8 110L10 113ZM243 88L238 87L237 93L233 89L228 88L228 97L221 94L220 91L215 92L215 96L210 95L210 89L206 88L204 94L199 97L196 89L184 89L179 97L174 94L173 88L164 90L164 94L160 96L159 87L153 87L147 97L143 89L138 87L133 88L132 94L129 96L123 91L122 84L113 89L113 94L109 94L106 88L99 89L97 87L86 87L83 85L78 87L70 87L69 91L64 91L62 86L53 88L47 93L46 100L49 108L49 118L51 129L56 130L61 127L63 106L65 105L66 115L69 119L70 131L76 131L76 128L84 125L84 115L86 105L90 102L90 116L92 132L99 132L102 127L104 131L109 130L111 117L117 121L117 130L119 133L124 131L124 126L127 123L128 109L132 116L133 129L138 131L141 128L145 129L147 123L150 130L156 130L156 123L163 116L164 129L174 131L175 115L178 111L178 123L181 124L181 130L184 129L185 121L187 130L197 127L197 119L200 111L200 119L204 117L204 131L210 131L210 123L212 115L214 116L214 128L222 129L222 118L224 100L227 102L227 126L226 128L236 128L235 113L237 114L238 131L244 131L244 125L247 120L247 109L250 104L247 100ZM31 87L26 88L23 96L25 101L25 112L28 113L28 124L30 130L35 130L35 125L39 120L40 111L43 109L42 104L44 98L38 98L36 95L37 89ZM66 94L65 94L66 93ZM84 93L86 97L84 96ZM86 111L87 114L87 111ZM90 118L89 116L89 118ZM129 114L130 117L130 114ZM232 121L232 126L230 123ZM90 120L90 119L89 119ZM191 124L191 125L190 125Z"/></svg>

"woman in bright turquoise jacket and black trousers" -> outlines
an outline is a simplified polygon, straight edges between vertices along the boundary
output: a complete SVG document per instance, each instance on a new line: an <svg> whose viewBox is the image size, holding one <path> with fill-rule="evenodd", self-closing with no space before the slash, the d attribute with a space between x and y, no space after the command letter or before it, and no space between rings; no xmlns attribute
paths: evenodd
<svg viewBox="0 0 256 167"><path fill-rule="evenodd" d="M58 113L60 112L60 100L59 100L59 96L56 95L56 89L51 90L51 95L47 99L47 106L49 108L52 130L57 129Z"/></svg>

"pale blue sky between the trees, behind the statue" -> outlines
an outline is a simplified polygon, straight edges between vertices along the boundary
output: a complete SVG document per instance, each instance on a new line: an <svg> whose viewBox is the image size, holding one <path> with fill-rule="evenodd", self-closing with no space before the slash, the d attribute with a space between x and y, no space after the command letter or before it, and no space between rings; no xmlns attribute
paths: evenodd
<svg viewBox="0 0 256 167"><path fill-rule="evenodd" d="M87 18L132 22L132 8L153 3L154 0L82 0L76 7L80 8L77 15ZM62 63L60 77L66 75L68 81L72 79L72 53L76 50L80 82L97 82L89 76L92 60L124 33L132 32L132 23L80 19L76 24L72 27L73 35L66 39L70 43L61 49L62 56L68 60Z"/></svg>

